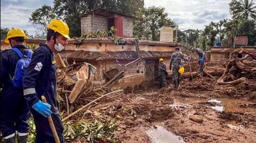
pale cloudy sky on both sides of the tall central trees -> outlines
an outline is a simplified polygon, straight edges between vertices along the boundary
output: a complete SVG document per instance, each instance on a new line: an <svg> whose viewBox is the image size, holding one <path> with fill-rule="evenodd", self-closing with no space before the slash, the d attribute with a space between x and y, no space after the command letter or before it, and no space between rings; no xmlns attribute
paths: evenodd
<svg viewBox="0 0 256 143"><path fill-rule="evenodd" d="M29 35L37 30L29 22L31 13L42 5L53 6L53 0L0 0L0 25L21 28ZM144 6L162 6L182 29L203 29L211 21L230 18L230 0L144 0Z"/></svg>

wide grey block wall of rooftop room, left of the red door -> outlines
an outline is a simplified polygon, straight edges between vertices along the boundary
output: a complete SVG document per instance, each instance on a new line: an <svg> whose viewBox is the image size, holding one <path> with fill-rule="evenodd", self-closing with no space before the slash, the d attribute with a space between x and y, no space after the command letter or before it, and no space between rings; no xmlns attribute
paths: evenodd
<svg viewBox="0 0 256 143"><path fill-rule="evenodd" d="M81 33L92 31L108 31L108 19L99 15L89 14L81 17Z"/></svg>

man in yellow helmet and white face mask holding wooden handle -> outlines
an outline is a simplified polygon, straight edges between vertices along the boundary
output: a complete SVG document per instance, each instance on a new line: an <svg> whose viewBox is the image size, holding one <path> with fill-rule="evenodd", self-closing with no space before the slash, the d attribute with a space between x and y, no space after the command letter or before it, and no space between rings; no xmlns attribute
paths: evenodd
<svg viewBox="0 0 256 143"><path fill-rule="evenodd" d="M46 44L35 50L23 78L24 97L34 117L35 143L55 143L47 117L51 116L61 143L64 143L63 124L56 101L57 66L54 54L67 44L69 28L61 20L52 20L47 26ZM44 95L47 104L41 101Z"/></svg>

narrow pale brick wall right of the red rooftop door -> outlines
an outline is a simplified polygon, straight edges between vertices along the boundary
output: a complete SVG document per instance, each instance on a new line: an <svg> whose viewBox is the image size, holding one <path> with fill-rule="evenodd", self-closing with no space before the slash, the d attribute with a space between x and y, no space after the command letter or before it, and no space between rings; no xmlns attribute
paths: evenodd
<svg viewBox="0 0 256 143"><path fill-rule="evenodd" d="M123 36L133 37L133 19L123 18Z"/></svg>

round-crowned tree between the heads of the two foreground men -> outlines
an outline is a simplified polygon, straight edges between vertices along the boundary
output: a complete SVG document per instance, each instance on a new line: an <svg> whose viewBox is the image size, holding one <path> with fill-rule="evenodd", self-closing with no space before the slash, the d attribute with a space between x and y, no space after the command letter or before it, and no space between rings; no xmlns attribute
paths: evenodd
<svg viewBox="0 0 256 143"><path fill-rule="evenodd" d="M49 25L52 19L56 18L54 9L51 6L43 5L32 12L29 22L40 27L37 35L46 35L47 25Z"/></svg>

